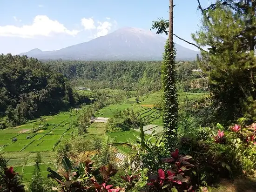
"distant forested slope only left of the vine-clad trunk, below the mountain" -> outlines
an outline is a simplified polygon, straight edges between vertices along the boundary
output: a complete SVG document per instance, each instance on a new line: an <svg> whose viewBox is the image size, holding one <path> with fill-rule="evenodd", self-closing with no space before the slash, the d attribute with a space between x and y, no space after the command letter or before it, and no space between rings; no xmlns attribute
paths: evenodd
<svg viewBox="0 0 256 192"><path fill-rule="evenodd" d="M92 90L117 88L147 93L161 88L161 63L157 61L49 61L74 86Z"/></svg>

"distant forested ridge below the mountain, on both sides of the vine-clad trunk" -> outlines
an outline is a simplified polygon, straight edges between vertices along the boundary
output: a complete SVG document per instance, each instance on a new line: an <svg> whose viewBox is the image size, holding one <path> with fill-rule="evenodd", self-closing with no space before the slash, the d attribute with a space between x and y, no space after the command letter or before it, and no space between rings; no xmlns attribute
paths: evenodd
<svg viewBox="0 0 256 192"><path fill-rule="evenodd" d="M62 73L72 86L90 89L117 88L123 90L158 91L161 89L160 61L47 61ZM202 92L205 85L195 70L195 61L177 63L178 89L181 92ZM194 71L193 71L194 70Z"/></svg>

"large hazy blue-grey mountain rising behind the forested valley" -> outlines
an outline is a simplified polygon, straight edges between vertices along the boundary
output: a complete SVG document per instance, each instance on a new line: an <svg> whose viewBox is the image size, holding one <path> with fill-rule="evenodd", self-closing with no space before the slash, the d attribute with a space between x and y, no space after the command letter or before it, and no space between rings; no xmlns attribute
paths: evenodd
<svg viewBox="0 0 256 192"><path fill-rule="evenodd" d="M124 27L88 42L56 50L33 49L28 57L39 60L162 60L166 39L144 29ZM177 60L194 60L199 52L178 44Z"/></svg>

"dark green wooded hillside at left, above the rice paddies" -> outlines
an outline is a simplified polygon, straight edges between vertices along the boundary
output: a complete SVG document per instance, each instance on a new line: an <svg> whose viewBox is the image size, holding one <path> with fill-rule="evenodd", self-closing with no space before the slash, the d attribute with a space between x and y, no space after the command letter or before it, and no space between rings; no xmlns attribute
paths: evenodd
<svg viewBox="0 0 256 192"><path fill-rule="evenodd" d="M12 125L81 102L89 103L90 99L74 93L63 74L48 64L26 56L0 54L0 117L5 116ZM0 129L6 126L1 120Z"/></svg>

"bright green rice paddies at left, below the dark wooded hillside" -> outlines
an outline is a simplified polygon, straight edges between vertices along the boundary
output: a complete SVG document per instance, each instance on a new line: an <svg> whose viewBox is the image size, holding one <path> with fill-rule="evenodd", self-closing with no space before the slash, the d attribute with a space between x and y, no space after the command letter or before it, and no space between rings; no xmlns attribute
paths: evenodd
<svg viewBox="0 0 256 192"><path fill-rule="evenodd" d="M8 165L14 166L23 174L25 181L31 179L31 169L34 168L37 152L40 152L42 157L41 170L47 175L47 167L52 166L55 159L56 146L61 140L70 138L74 131L70 123L75 116L70 117L69 112L45 118L43 123L38 120L12 129L0 130L0 154L8 159ZM42 124L45 126L41 130L32 131L34 127ZM13 138L17 141L12 141Z"/></svg>

